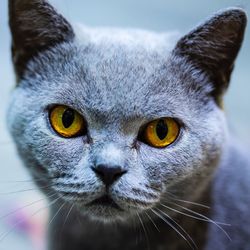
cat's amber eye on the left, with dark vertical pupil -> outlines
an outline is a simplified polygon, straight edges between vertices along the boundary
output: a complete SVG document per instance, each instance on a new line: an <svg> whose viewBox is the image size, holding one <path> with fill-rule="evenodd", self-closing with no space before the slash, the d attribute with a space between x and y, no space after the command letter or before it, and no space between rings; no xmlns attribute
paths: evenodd
<svg viewBox="0 0 250 250"><path fill-rule="evenodd" d="M52 108L49 115L52 128L63 137L76 137L86 134L86 123L75 110L58 105Z"/></svg>

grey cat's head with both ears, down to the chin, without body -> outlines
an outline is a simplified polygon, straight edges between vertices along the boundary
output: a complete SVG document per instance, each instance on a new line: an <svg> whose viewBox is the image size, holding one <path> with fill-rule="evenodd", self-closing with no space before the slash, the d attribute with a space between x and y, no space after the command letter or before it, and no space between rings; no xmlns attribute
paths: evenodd
<svg viewBox="0 0 250 250"><path fill-rule="evenodd" d="M102 221L201 192L225 146L221 105L242 9L177 43L168 33L73 29L44 0L11 0L9 11L8 125L41 189Z"/></svg>

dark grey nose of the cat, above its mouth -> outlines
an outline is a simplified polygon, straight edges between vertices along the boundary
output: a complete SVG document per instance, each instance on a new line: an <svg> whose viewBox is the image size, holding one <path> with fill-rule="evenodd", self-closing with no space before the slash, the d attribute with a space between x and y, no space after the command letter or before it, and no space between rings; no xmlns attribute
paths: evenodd
<svg viewBox="0 0 250 250"><path fill-rule="evenodd" d="M92 170L107 186L113 184L117 179L127 172L120 166L109 166L104 164L94 166L92 167Z"/></svg>

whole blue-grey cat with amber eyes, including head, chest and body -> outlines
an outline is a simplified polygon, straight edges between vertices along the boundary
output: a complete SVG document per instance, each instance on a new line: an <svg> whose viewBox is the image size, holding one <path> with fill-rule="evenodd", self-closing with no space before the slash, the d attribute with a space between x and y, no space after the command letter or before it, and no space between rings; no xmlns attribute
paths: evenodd
<svg viewBox="0 0 250 250"><path fill-rule="evenodd" d="M250 158L223 111L247 17L179 37L73 27L9 0L8 126L50 206L50 250L250 249Z"/></svg>

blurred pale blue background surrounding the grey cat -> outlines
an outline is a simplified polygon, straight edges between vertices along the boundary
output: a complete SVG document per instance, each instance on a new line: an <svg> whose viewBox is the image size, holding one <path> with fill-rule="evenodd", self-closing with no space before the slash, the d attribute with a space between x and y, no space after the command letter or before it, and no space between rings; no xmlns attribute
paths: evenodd
<svg viewBox="0 0 250 250"><path fill-rule="evenodd" d="M249 0L51 0L71 22L89 26L189 31L221 8L243 7ZM10 60L7 0L0 1L0 250L42 250L47 208L25 172L7 132L8 100L15 86ZM32 25L32 24L31 24ZM231 130L250 143L250 26L226 95ZM20 209L24 207L23 209Z"/></svg>

